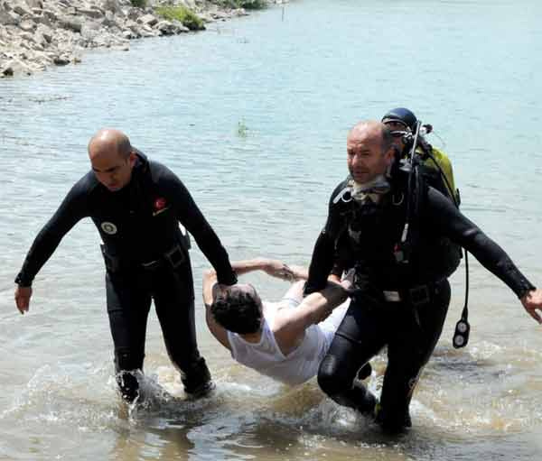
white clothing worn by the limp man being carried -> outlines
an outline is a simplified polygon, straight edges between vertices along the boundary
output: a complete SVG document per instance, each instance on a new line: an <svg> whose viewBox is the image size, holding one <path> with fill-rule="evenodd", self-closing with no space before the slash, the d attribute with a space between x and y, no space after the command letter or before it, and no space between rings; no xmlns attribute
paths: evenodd
<svg viewBox="0 0 542 461"><path fill-rule="evenodd" d="M335 331L341 325L350 300L333 309L332 314L319 324L308 327L302 343L288 355L284 355L276 344L272 331L276 311L295 309L298 304L299 301L290 299L278 303L264 302L264 321L259 342L249 343L237 333L229 331L231 356L239 364L253 368L281 383L295 385L313 378L332 344Z"/></svg>

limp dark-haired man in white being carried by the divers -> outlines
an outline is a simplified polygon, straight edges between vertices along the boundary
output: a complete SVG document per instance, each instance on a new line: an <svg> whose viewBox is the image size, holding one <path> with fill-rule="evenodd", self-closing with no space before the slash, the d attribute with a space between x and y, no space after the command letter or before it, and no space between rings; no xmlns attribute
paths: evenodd
<svg viewBox="0 0 542 461"><path fill-rule="evenodd" d="M318 367L349 306L351 279L303 298L304 268L276 260L253 259L231 264L238 275L253 271L295 281L278 302L262 302L252 285L223 286L216 273L203 276L207 325L222 346L239 363L281 383L301 384L318 373ZM370 374L370 366L359 377Z"/></svg>

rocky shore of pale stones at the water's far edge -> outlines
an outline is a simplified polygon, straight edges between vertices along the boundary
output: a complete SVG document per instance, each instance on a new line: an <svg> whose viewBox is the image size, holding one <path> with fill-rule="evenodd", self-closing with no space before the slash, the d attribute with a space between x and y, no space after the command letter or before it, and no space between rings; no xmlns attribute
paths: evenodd
<svg viewBox="0 0 542 461"><path fill-rule="evenodd" d="M204 23L247 14L244 8L232 5L240 4L201 0L0 0L0 78L80 62L86 49L128 51L131 40L190 32L204 28ZM164 6L181 8L201 21L194 25L166 19Z"/></svg>

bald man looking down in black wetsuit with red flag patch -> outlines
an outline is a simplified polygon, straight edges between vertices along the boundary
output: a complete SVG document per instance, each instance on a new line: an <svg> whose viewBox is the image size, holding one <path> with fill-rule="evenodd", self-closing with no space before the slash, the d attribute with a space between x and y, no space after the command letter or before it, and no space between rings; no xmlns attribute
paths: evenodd
<svg viewBox="0 0 542 461"><path fill-rule="evenodd" d="M37 235L15 279L17 309L28 311L36 273L71 227L90 217L104 243L107 313L123 398L134 401L139 395L135 371L143 369L152 299L185 392L201 396L212 382L196 343L192 268L179 223L214 266L219 282L232 285L237 278L228 254L181 180L148 161L126 134L99 131L89 142L89 158L92 171L73 186Z"/></svg>

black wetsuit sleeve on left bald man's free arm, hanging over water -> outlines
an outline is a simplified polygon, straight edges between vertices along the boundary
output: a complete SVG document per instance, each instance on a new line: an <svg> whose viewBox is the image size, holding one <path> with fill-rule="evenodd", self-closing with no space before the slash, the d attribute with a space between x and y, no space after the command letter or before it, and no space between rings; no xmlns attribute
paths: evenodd
<svg viewBox="0 0 542 461"><path fill-rule="evenodd" d="M89 216L88 205L81 180L71 188L61 206L34 239L15 283L23 287L32 285L34 277L54 253L62 237L68 234L80 219L87 216Z"/></svg>

